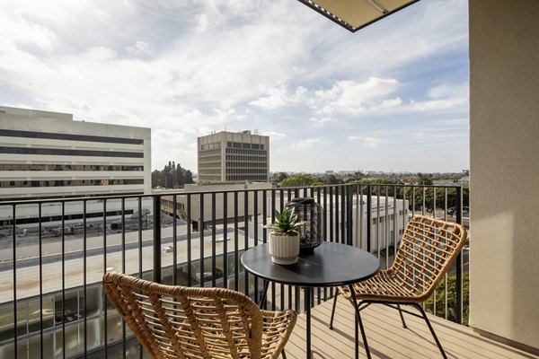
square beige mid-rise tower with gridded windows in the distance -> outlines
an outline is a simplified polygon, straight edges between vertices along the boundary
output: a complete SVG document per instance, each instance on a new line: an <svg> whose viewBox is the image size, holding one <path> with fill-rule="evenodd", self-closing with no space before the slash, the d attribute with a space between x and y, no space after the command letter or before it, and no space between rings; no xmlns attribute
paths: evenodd
<svg viewBox="0 0 539 359"><path fill-rule="evenodd" d="M217 132L198 139L199 182L268 182L270 137L251 131Z"/></svg>

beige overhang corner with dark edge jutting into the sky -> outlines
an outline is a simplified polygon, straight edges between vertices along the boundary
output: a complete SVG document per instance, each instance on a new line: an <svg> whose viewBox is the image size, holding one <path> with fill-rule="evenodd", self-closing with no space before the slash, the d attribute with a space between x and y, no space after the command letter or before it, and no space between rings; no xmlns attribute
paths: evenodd
<svg viewBox="0 0 539 359"><path fill-rule="evenodd" d="M298 0L332 22L356 32L420 0Z"/></svg>

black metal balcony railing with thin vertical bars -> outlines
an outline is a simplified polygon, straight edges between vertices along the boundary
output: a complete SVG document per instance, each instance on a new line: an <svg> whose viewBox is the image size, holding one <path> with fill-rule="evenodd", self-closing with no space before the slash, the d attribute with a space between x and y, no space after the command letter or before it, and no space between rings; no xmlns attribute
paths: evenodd
<svg viewBox="0 0 539 359"><path fill-rule="evenodd" d="M258 302L261 283L244 272L241 254L267 241L262 226L294 197L323 206L325 241L371 251L382 267L391 266L412 215L468 225L460 187L350 184L0 202L0 357L142 357L102 292L111 270L224 286ZM457 323L466 320L465 254L426 303ZM311 302L334 293L314 290ZM304 303L299 288L270 285L268 308L303 311Z"/></svg>

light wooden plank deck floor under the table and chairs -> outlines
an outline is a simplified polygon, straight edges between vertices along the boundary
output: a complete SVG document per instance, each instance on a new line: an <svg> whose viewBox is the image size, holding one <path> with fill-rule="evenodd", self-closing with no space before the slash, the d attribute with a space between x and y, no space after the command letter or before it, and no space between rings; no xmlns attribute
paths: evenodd
<svg viewBox="0 0 539 359"><path fill-rule="evenodd" d="M314 358L338 359L354 357L354 311L342 299L337 303L333 330L329 329L331 301L316 306L312 313ZM408 328L402 328L397 311L382 305L371 305L361 318L373 358L440 358L434 339L423 320L405 314ZM508 359L538 358L481 337L473 329L447 320L429 317L448 358ZM305 314L299 316L296 328L286 346L287 358L305 358ZM359 357L365 358L360 344Z"/></svg>

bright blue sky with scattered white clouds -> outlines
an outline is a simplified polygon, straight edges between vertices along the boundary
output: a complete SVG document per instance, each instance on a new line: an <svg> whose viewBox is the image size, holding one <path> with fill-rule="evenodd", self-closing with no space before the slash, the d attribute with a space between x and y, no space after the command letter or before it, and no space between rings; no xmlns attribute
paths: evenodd
<svg viewBox="0 0 539 359"><path fill-rule="evenodd" d="M0 104L197 137L270 136L270 171L469 169L466 0L351 33L296 0L2 0Z"/></svg>

